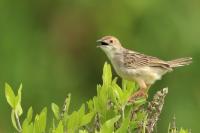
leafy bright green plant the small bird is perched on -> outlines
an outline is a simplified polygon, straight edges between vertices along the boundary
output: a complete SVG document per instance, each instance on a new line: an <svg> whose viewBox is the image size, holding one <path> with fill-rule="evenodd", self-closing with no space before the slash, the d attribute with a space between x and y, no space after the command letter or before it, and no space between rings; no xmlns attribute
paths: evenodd
<svg viewBox="0 0 200 133"><path fill-rule="evenodd" d="M33 109L30 107L24 120L21 107L20 85L18 94L15 95L10 85L5 84L5 95L11 106L11 120L14 128L19 133L151 133L157 123L164 105L167 89L158 91L151 102L146 99L138 99L129 103L129 97L137 91L137 85L133 82L122 80L121 87L117 84L117 78L112 79L111 67L105 63L103 68L103 83L97 85L97 96L83 103L79 110L69 112L71 95L65 99L60 108L52 103L54 114L50 128L47 130L47 108L44 107L39 114L33 117ZM148 105L146 105L148 104ZM187 130L169 133L188 133Z"/></svg>

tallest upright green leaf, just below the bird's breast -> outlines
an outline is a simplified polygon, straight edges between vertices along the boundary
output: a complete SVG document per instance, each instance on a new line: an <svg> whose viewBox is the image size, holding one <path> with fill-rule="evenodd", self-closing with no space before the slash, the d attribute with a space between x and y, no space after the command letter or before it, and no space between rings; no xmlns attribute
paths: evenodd
<svg viewBox="0 0 200 133"><path fill-rule="evenodd" d="M112 82L112 71L111 71L111 66L105 62L104 67L103 67L103 85L110 85Z"/></svg>

